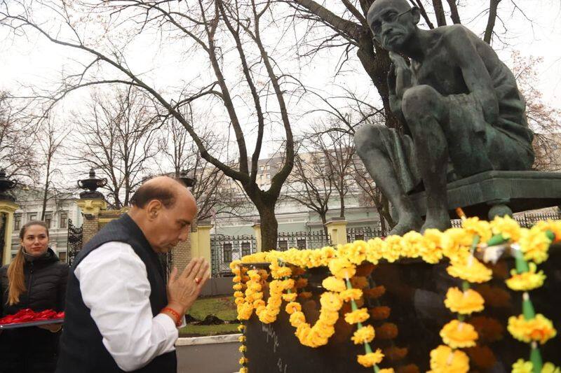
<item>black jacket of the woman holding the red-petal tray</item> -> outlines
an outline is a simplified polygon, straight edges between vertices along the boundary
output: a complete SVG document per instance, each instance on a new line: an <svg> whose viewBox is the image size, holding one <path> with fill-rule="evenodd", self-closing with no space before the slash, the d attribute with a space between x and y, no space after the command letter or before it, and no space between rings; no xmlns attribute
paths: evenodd
<svg viewBox="0 0 561 373"><path fill-rule="evenodd" d="M29 257L28 257L29 258ZM18 304L8 305L8 265L0 268L0 317L20 309L64 311L69 267L53 250L29 260L24 266L25 287ZM60 332L29 327L4 330L0 334L0 373L54 372Z"/></svg>

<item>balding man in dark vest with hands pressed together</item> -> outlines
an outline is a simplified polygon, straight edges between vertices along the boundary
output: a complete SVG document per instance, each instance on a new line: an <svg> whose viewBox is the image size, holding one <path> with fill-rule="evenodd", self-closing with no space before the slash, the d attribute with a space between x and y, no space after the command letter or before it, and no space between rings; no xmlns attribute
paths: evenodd
<svg viewBox="0 0 561 373"><path fill-rule="evenodd" d="M195 199L179 181L158 177L130 202L72 264L58 373L177 372L177 330L209 265L191 260L180 276L174 268L166 287L157 254L187 239Z"/></svg>

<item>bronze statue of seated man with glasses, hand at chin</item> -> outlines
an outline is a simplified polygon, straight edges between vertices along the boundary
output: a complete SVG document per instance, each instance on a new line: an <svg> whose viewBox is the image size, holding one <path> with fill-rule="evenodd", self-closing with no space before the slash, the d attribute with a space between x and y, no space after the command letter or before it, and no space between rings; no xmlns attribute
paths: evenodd
<svg viewBox="0 0 561 373"><path fill-rule="evenodd" d="M376 0L367 21L390 52L390 106L406 134L367 125L355 135L365 167L398 214L391 234L450 227L447 182L532 167L532 131L513 73L461 24L424 30L406 0ZM410 64L401 57L410 59ZM426 190L426 220L408 193Z"/></svg>

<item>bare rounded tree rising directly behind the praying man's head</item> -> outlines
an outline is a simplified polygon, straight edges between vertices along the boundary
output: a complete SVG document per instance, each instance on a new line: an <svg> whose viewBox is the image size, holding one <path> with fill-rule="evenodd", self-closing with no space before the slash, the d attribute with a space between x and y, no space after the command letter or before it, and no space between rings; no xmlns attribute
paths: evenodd
<svg viewBox="0 0 561 373"><path fill-rule="evenodd" d="M105 188L115 209L128 205L159 151L158 118L149 103L136 88L117 87L114 94L93 93L89 112L76 114L78 130L72 139L76 146L69 160L107 178Z"/></svg>

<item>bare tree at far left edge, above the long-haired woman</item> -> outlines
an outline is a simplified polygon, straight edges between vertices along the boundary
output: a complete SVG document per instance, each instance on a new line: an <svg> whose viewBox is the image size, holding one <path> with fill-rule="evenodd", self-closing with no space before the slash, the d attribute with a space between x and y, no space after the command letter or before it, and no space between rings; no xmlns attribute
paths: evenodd
<svg viewBox="0 0 561 373"><path fill-rule="evenodd" d="M24 111L13 104L8 92L0 92L0 168L20 183L33 184L38 174L35 149L29 139L36 126Z"/></svg>

